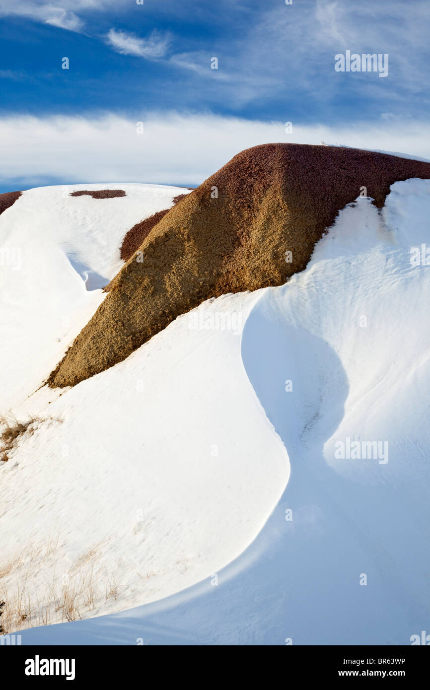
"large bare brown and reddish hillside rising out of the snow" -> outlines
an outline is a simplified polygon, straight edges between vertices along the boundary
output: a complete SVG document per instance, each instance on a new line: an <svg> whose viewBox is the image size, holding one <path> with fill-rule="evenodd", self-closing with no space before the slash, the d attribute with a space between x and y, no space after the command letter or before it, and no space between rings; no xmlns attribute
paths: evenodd
<svg viewBox="0 0 430 690"><path fill-rule="evenodd" d="M381 207L390 185L409 177L430 179L430 164L330 146L242 151L150 230L50 386L77 384L121 362L209 297L284 283L306 267L315 242L360 188Z"/></svg>

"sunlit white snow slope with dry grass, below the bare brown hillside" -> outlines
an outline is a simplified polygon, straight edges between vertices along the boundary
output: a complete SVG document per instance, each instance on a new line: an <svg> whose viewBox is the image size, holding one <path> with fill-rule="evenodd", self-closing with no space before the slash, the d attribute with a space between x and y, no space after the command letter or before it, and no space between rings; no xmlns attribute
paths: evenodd
<svg viewBox="0 0 430 690"><path fill-rule="evenodd" d="M80 249L109 275L108 253L96 264ZM24 627L65 620L58 605L46 613L65 587L76 618L164 598L216 573L260 532L289 463L240 358L257 298L206 302L108 371L13 407L19 420L37 416L0 468L2 558L12 564L2 596L25 583L26 609L42 602Z"/></svg>

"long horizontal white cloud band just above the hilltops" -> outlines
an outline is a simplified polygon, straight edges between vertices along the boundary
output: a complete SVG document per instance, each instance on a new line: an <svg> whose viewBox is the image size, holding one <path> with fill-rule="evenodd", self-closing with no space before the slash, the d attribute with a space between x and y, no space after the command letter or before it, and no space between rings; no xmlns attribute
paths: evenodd
<svg viewBox="0 0 430 690"><path fill-rule="evenodd" d="M135 119L105 115L0 119L0 181L23 186L64 182L199 184L244 148L269 142L336 144L400 151L430 158L430 133L420 122L351 123L342 128L300 126L287 135L282 122L175 112Z"/></svg>

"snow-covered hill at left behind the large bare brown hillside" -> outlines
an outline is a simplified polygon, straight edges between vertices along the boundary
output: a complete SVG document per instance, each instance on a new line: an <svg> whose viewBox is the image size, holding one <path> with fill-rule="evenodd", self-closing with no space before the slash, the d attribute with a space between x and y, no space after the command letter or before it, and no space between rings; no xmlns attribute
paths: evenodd
<svg viewBox="0 0 430 690"><path fill-rule="evenodd" d="M121 189L125 197L70 197ZM187 193L155 184L81 184L22 193L0 215L0 413L19 404L59 362L124 264L127 230Z"/></svg>

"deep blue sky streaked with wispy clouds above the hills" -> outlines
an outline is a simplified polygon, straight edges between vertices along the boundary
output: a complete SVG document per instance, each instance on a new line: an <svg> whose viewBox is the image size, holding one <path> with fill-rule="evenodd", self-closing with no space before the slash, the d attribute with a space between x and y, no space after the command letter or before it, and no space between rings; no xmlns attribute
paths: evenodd
<svg viewBox="0 0 430 690"><path fill-rule="evenodd" d="M176 114L181 121L200 123L202 117L217 118L214 153L217 138L224 140L237 119L244 127L279 123L280 141L286 121L308 128L310 143L320 143L312 139L313 128L320 126L351 135L367 128L369 148L378 143L378 132L389 130L391 142L397 131L395 148L403 151L404 134L425 130L429 119L429 17L427 0L293 0L291 5L284 0L144 0L141 5L135 0L0 0L0 135L13 137L12 117L17 127L34 118L37 144L39 128L52 126L55 117L89 124L106 118L112 123L114 117L131 126L156 117L162 124ZM335 55L346 50L387 53L388 76L335 72ZM61 68L63 57L69 59L68 70ZM211 69L213 57L217 70ZM113 136L108 130L106 146ZM14 135L19 146L19 131ZM75 135L70 133L72 139ZM260 143L256 134L255 144ZM430 153L426 146L422 155ZM159 147L169 155L161 140ZM209 143L206 149L202 155L207 153L209 166ZM234 146L231 150L237 152ZM13 170L0 171L0 188L18 181L35 184L35 179L76 181L77 172L68 170L66 161L63 174L55 170L53 156L54 151L51 172L45 161L39 178L36 161L28 168L24 155L20 168L12 161ZM158 180L157 174L148 179L149 158L146 162L146 181ZM197 163L195 184L206 173ZM88 175L91 166L83 165L83 178L86 170ZM180 170L172 170L175 179L166 182L190 183L193 175L182 180L178 173L181 177ZM170 175L168 166L164 174Z"/></svg>

